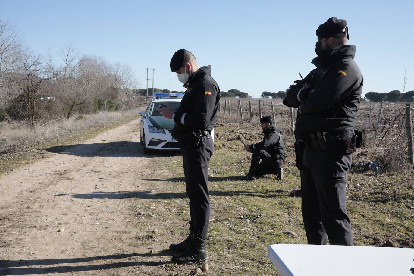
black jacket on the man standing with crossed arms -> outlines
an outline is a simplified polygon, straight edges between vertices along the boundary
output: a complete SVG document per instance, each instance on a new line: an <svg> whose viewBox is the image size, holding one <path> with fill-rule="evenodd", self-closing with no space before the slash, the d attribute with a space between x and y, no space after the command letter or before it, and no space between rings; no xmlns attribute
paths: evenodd
<svg viewBox="0 0 414 276"><path fill-rule="evenodd" d="M342 45L323 51L312 60L317 68L289 89L283 103L298 108L298 139L307 139L309 133L317 131L333 136L354 132L363 85L363 76L354 61L355 48ZM304 83L310 88L302 89Z"/></svg>

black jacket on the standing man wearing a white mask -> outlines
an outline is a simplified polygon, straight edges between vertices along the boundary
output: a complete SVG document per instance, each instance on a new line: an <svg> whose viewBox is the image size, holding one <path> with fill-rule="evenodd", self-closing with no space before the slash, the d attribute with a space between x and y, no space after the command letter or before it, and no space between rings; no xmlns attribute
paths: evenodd
<svg viewBox="0 0 414 276"><path fill-rule="evenodd" d="M210 65L200 67L189 78L188 89L174 116L175 125L171 136L177 138L180 133L195 130L211 131L216 122L219 101L220 88L211 77ZM185 113L183 124L182 117Z"/></svg>

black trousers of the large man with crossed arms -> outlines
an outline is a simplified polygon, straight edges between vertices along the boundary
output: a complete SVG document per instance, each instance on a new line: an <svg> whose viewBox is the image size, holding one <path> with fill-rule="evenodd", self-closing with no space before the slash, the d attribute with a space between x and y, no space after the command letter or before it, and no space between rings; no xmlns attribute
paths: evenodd
<svg viewBox="0 0 414 276"><path fill-rule="evenodd" d="M346 207L352 155L305 149L301 169L302 216L308 244L353 245Z"/></svg>

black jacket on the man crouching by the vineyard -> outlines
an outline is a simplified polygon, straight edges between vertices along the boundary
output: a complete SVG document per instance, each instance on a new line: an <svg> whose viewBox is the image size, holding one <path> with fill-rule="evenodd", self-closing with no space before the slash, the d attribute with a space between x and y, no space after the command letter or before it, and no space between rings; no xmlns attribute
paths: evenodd
<svg viewBox="0 0 414 276"><path fill-rule="evenodd" d="M253 151L253 149L264 149L272 157L284 160L286 158L286 151L284 150L283 139L280 136L282 130L279 130L271 125L270 127L267 127L265 130L263 130L263 133L265 134L263 141L250 145L250 150Z"/></svg>

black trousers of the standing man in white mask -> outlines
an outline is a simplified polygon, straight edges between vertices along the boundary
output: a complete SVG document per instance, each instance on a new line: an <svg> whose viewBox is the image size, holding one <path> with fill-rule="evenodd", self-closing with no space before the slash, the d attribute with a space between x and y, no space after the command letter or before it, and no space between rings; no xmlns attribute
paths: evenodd
<svg viewBox="0 0 414 276"><path fill-rule="evenodd" d="M185 191L190 199L190 229L196 237L206 239L210 219L210 196L207 187L208 163L214 142L210 134L202 137L204 145L181 149Z"/></svg>

